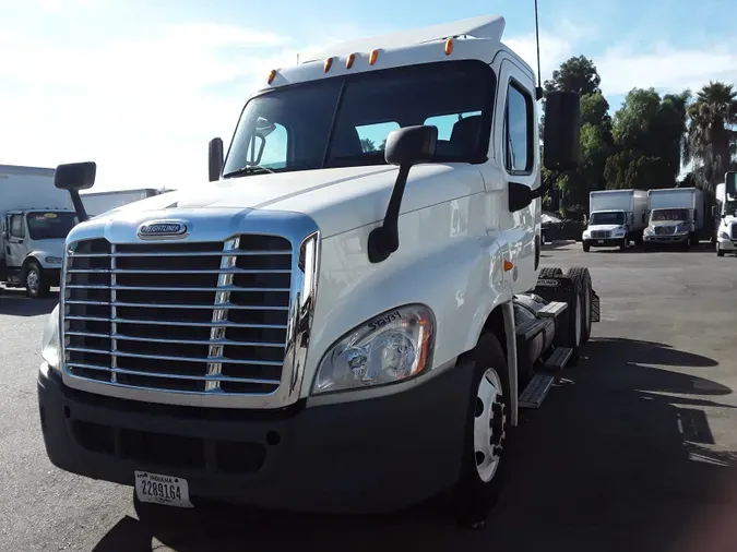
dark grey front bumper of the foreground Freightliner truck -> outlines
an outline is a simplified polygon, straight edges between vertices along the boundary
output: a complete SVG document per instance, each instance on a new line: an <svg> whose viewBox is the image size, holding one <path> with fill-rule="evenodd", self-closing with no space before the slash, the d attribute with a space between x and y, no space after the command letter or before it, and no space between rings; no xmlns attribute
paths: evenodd
<svg viewBox="0 0 737 552"><path fill-rule="evenodd" d="M472 371L455 367L388 397L255 412L170 407L66 387L41 367L46 452L59 468L133 485L133 471L189 481L192 502L378 513L452 487Z"/></svg>

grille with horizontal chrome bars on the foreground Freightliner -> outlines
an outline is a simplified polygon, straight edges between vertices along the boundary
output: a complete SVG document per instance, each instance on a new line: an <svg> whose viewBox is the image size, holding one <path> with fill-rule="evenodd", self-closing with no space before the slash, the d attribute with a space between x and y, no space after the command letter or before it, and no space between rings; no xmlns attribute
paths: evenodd
<svg viewBox="0 0 737 552"><path fill-rule="evenodd" d="M272 394L287 343L292 243L72 244L63 328L67 373L138 388Z"/></svg>

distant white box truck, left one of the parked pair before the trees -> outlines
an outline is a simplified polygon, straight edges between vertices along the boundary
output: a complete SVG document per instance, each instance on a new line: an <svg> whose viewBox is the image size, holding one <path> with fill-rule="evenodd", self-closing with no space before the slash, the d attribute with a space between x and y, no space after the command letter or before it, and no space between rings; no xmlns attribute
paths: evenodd
<svg viewBox="0 0 737 552"><path fill-rule="evenodd" d="M589 219L583 231L583 250L619 248L630 242L642 244L646 226L647 192L645 190L601 190L589 195Z"/></svg>

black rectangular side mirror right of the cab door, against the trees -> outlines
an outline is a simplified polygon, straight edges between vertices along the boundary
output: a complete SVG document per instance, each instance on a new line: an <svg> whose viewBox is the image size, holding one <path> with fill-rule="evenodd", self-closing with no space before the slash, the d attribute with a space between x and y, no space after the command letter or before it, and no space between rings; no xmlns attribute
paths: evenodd
<svg viewBox="0 0 737 552"><path fill-rule="evenodd" d="M581 163L581 96L551 92L545 97L544 164L549 170L575 169Z"/></svg>

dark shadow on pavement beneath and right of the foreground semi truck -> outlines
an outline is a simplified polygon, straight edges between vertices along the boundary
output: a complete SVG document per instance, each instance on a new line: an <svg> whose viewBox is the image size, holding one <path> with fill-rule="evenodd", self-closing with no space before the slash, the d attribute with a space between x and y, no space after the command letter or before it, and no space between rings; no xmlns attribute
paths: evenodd
<svg viewBox="0 0 737 552"><path fill-rule="evenodd" d="M665 368L651 368L657 364ZM734 454L715 451L702 408L732 389L668 368L712 359L667 345L595 339L540 410L523 410L510 478L483 531L461 531L432 501L381 517L218 506L138 508L96 552L173 550L674 551L734 550ZM704 370L705 372L705 370ZM299 469L295 458L295 469ZM418 458L421 461L421 458ZM356 477L360 477L357 473ZM158 550L158 549L157 549Z"/></svg>

